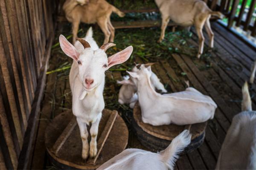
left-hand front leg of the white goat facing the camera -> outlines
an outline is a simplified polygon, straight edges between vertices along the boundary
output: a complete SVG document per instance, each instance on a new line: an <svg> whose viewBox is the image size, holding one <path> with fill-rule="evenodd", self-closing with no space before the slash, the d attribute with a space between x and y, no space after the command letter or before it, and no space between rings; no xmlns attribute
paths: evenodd
<svg viewBox="0 0 256 170"><path fill-rule="evenodd" d="M82 139L82 158L87 159L89 155L89 144L88 144L88 131L85 122L82 122L81 119L76 118L79 129L80 135Z"/></svg>

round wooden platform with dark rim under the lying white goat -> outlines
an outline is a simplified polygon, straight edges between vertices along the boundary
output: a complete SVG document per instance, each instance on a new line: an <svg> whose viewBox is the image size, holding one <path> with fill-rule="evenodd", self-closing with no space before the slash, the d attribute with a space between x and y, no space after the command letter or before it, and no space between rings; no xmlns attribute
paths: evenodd
<svg viewBox="0 0 256 170"><path fill-rule="evenodd" d="M138 102L134 106L132 124L139 141L143 146L154 152L164 150L183 130L189 129L192 134L191 143L183 153L192 152L192 150L201 146L204 142L205 128L207 126L207 122L186 126L174 124L153 126L143 123Z"/></svg>

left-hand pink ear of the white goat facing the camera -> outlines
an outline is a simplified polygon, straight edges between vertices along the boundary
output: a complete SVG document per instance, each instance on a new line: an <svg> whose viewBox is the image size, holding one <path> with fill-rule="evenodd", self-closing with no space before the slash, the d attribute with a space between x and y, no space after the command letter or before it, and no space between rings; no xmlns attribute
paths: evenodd
<svg viewBox="0 0 256 170"><path fill-rule="evenodd" d="M63 35L60 35L59 41L60 41L62 51L68 57L71 57L71 58L73 58L74 60L77 61L80 54L76 50L76 48L70 42L68 42L68 40Z"/></svg>

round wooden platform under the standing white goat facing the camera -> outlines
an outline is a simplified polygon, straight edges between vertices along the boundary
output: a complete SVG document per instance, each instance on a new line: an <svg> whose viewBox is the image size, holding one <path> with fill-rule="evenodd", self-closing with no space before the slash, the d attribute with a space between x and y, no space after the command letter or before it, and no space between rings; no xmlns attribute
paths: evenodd
<svg viewBox="0 0 256 170"><path fill-rule="evenodd" d="M89 131L89 128L88 128ZM89 137L90 139L90 137ZM76 117L71 110L56 116L45 133L45 146L50 160L61 169L93 170L121 153L128 143L128 129L117 111L104 109L99 123L97 156L81 158L82 142Z"/></svg>

